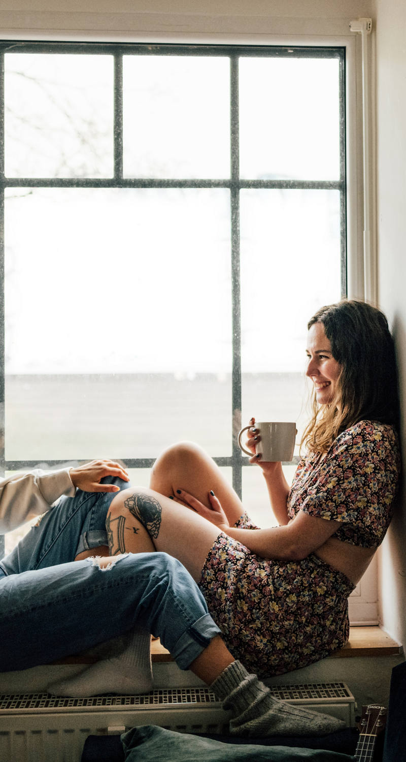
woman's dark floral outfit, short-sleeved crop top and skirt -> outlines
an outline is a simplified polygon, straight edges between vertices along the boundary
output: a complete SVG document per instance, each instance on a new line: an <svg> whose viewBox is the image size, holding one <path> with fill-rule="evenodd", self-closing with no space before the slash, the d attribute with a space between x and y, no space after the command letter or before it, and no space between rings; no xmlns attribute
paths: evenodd
<svg viewBox="0 0 406 762"><path fill-rule="evenodd" d="M334 537L376 548L392 517L400 456L395 430L360 421L327 453L296 470L287 507L342 524ZM257 529L247 514L236 527ZM262 559L220 533L203 566L200 589L235 658L262 677L328 656L347 642L353 583L314 553L302 561Z"/></svg>

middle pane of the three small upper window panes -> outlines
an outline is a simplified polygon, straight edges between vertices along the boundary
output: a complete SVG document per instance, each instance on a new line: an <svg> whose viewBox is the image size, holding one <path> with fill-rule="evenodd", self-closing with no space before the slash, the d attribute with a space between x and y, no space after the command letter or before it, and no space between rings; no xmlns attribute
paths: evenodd
<svg viewBox="0 0 406 762"><path fill-rule="evenodd" d="M124 56L126 177L227 178L227 58Z"/></svg>

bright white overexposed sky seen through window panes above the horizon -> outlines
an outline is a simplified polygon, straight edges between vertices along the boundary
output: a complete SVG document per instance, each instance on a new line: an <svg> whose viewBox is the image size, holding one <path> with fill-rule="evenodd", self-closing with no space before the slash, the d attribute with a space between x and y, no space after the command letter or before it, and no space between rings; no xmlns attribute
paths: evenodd
<svg viewBox="0 0 406 762"><path fill-rule="evenodd" d="M112 56L6 56L6 173L108 178ZM338 178L336 59L241 59L243 178ZM229 178L229 60L126 56L126 177ZM229 373L227 189L16 189L6 372ZM241 191L243 370L302 370L340 298L337 191Z"/></svg>

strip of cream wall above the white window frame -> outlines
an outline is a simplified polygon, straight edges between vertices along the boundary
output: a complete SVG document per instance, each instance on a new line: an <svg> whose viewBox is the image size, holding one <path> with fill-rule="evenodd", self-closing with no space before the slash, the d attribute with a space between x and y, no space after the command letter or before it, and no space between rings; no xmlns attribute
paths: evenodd
<svg viewBox="0 0 406 762"><path fill-rule="evenodd" d="M37 39L89 35L142 41L178 34L215 40L224 34L347 34L372 0L0 0L3 37L30 30ZM295 40L292 40L292 43Z"/></svg>

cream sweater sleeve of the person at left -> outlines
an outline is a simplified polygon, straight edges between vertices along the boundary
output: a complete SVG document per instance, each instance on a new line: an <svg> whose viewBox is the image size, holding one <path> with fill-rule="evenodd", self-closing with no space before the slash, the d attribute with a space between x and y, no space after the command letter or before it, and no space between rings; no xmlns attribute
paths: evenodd
<svg viewBox="0 0 406 762"><path fill-rule="evenodd" d="M61 495L75 495L69 469L19 473L0 482L0 534L49 511Z"/></svg>

